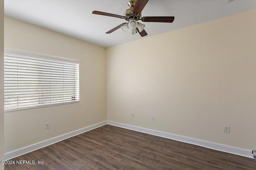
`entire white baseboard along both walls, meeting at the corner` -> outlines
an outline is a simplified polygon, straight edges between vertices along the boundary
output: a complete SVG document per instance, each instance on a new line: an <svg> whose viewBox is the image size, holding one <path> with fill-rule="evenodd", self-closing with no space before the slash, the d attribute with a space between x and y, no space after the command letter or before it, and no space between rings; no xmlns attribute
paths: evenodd
<svg viewBox="0 0 256 170"><path fill-rule="evenodd" d="M231 153L231 154L236 154L236 155L240 155L240 156L244 156L247 158L253 158L252 156L252 150L248 150L248 149L242 149L242 148L238 148L238 147L232 147L232 146L228 146L228 145L223 145L220 143L213 143L210 141L204 141L204 140L200 140L200 139L195 139L195 138L190 138L190 137L185 137L185 136L181 136L181 135L175 135L172 133L166 133L166 132L162 132L162 131L156 131L156 130L152 130L152 129L146 129L143 127L138 127L138 126L133 126L133 125L128 125L128 124L124 124L124 123L118 123L118 122L114 122L114 121L102 121L100 123L96 123L94 125L90 125L88 127L84 127L82 129L78 129L76 131L72 131L70 133L66 133L51 139L47 139L45 141L41 141L20 149L16 149L16 150L12 150L10 152L6 152L4 154L4 159L5 160L10 160L12 158L15 158L17 156L26 154L28 152L32 152L34 150L52 145L54 143L60 142L64 139L68 139L70 137L79 135L81 133L90 131L92 129L96 129L98 127L104 126L104 125L113 125L113 126L117 126L117 127L122 127L125 129L130 129L133 131L138 131L138 132L142 132L142 133L147 133L150 135L155 135L155 136L159 136L159 137L164 137L167 139L173 139L176 141L181 141L184 143L190 143L193 145L198 145L200 147L205 147L205 148L209 148L209 149L214 149L214 150L219 150L222 152L227 152L227 153Z"/></svg>

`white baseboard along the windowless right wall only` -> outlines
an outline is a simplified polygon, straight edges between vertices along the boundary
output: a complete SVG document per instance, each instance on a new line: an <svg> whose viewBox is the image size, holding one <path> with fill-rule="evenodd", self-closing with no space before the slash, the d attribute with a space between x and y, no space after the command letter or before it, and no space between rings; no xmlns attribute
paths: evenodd
<svg viewBox="0 0 256 170"><path fill-rule="evenodd" d="M205 147L205 148L209 148L209 149L219 150L219 151L222 151L222 152L236 154L236 155L244 156L244 157L247 157L247 158L253 158L252 150L248 150L248 149L232 147L232 146L223 145L223 144L220 144L220 143L214 143L214 142L210 142L210 141L204 141L204 140L185 137L185 136L181 136L181 135L175 135L175 134L172 134L172 133L166 133L166 132L162 132L162 131L146 129L146 128L143 128L143 127L128 125L128 124L124 124L124 123L118 123L118 122L114 122L114 121L107 121L107 124L117 126L117 127L122 127L122 128L125 128L125 129L130 129L130 130L133 130L133 131L147 133L147 134L150 134L150 135L155 135L155 136L159 136L159 137L173 139L175 141L190 143L190 144L193 144L193 145L198 145L200 147Z"/></svg>

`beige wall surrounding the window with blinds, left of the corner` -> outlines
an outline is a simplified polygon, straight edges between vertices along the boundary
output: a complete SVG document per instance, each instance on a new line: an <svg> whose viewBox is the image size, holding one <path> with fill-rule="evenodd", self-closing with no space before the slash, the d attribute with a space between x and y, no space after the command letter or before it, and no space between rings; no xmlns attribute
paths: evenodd
<svg viewBox="0 0 256 170"><path fill-rule="evenodd" d="M80 61L80 102L5 112L5 152L106 121L106 49L4 19L5 48Z"/></svg>

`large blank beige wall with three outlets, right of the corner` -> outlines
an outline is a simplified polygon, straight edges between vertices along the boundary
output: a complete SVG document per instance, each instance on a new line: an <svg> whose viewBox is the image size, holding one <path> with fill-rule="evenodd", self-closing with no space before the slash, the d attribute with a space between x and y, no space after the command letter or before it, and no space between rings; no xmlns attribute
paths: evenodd
<svg viewBox="0 0 256 170"><path fill-rule="evenodd" d="M111 47L106 56L108 120L255 149L256 10Z"/></svg>

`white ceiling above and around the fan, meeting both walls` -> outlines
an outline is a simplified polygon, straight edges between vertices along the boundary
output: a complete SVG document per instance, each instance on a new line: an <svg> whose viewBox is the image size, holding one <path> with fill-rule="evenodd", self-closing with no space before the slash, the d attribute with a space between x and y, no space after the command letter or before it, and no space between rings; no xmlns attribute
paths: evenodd
<svg viewBox="0 0 256 170"><path fill-rule="evenodd" d="M4 14L82 41L112 47L256 8L256 0L234 0L230 3L224 0L149 0L142 16L175 16L174 22L144 22L148 33L145 37L130 35L122 29L106 34L126 21L95 15L92 11L123 16L124 11L129 8L127 2L128 0L5 0Z"/></svg>

